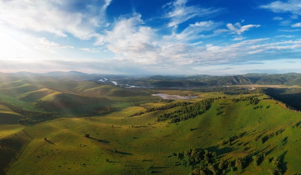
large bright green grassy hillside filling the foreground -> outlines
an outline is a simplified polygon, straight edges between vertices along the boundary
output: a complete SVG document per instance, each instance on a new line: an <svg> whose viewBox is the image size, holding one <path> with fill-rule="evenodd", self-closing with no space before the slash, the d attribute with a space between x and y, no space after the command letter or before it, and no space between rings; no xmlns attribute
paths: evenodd
<svg viewBox="0 0 301 175"><path fill-rule="evenodd" d="M173 108L126 117L153 105L128 107L103 117L60 118L27 126L29 135L36 136L8 174L189 174L198 164L189 165L175 155L195 147L215 151L214 162L247 157L242 170L229 169L227 174L269 174L271 159L277 156L283 174L301 171L301 159L296 156L301 154L301 114L277 101L262 99L250 104L221 98L205 113L178 123L155 121ZM87 133L89 137L84 136ZM237 138L223 144L233 135ZM265 157L257 166L251 156L258 153Z"/></svg>

